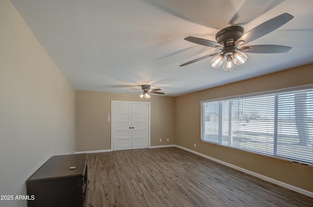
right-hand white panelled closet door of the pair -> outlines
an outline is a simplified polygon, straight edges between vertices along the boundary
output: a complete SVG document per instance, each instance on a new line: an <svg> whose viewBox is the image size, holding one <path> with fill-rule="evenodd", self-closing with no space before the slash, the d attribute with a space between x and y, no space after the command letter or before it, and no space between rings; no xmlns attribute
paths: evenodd
<svg viewBox="0 0 313 207"><path fill-rule="evenodd" d="M148 148L148 104L132 104L132 149Z"/></svg>

